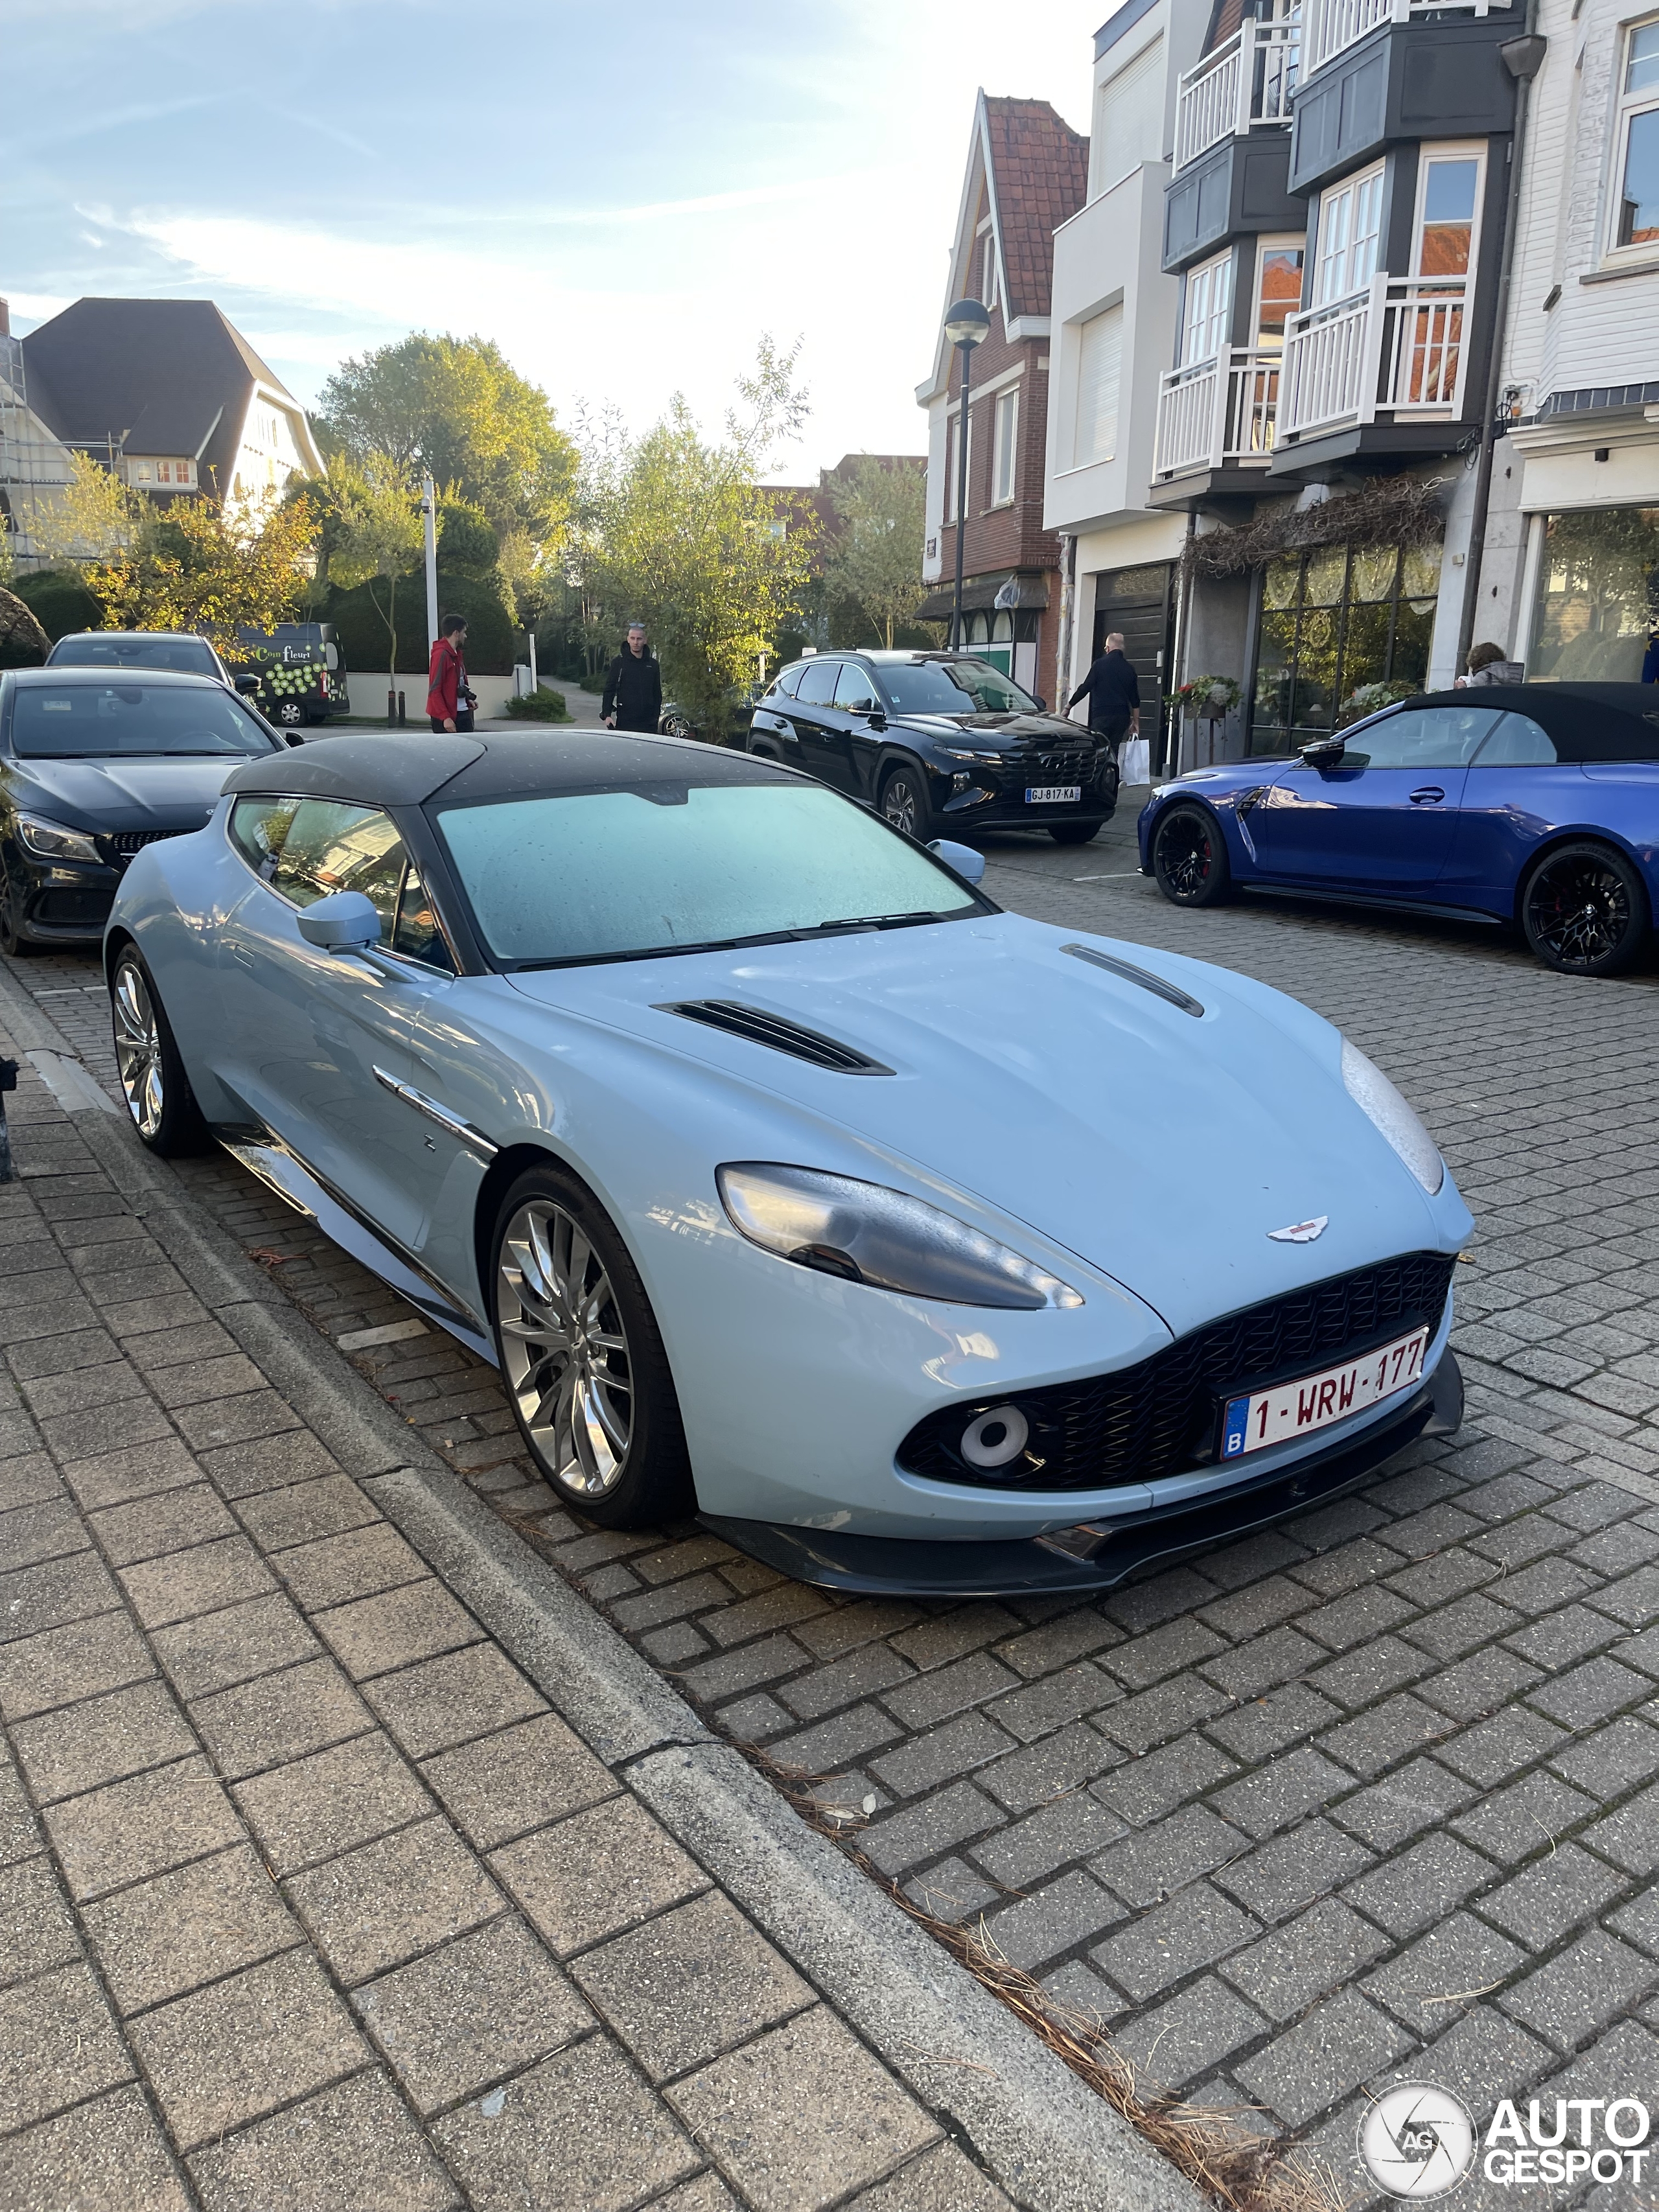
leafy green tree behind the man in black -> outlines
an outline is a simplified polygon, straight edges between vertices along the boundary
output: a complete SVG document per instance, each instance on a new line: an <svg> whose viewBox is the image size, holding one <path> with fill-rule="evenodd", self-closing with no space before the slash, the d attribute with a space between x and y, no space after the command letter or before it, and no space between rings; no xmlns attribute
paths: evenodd
<svg viewBox="0 0 1659 2212"><path fill-rule="evenodd" d="M794 352L761 341L737 392L719 442L679 394L637 442L608 425L582 487L577 562L595 628L619 635L639 617L666 690L708 732L723 730L728 690L754 679L799 606L814 553L812 520L759 482L805 420Z"/></svg>

